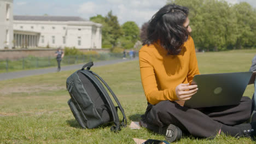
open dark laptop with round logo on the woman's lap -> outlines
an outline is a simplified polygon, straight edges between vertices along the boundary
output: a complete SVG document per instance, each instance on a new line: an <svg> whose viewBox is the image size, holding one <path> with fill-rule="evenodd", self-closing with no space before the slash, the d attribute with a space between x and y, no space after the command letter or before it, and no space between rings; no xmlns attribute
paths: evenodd
<svg viewBox="0 0 256 144"><path fill-rule="evenodd" d="M184 106L191 108L237 105L251 79L252 71L195 75L198 91Z"/></svg>

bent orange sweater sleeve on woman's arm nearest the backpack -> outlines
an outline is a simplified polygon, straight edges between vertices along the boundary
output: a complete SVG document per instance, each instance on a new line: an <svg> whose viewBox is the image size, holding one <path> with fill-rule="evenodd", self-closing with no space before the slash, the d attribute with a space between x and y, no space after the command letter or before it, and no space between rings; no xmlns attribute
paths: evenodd
<svg viewBox="0 0 256 144"><path fill-rule="evenodd" d="M149 52L139 51L139 66L144 93L150 104L155 105L162 100L177 100L175 87L159 91L155 79L152 57L149 55Z"/></svg>

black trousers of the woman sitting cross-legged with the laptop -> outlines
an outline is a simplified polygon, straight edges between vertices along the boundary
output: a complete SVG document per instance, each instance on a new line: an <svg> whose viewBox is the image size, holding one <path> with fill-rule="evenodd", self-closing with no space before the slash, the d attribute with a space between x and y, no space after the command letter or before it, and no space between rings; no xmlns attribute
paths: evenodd
<svg viewBox="0 0 256 144"><path fill-rule="evenodd" d="M148 104L144 121L157 127L174 124L183 133L196 137L212 137L218 134L223 125L237 125L246 122L251 116L252 101L242 97L240 104L230 106L190 109L174 101L161 101Z"/></svg>

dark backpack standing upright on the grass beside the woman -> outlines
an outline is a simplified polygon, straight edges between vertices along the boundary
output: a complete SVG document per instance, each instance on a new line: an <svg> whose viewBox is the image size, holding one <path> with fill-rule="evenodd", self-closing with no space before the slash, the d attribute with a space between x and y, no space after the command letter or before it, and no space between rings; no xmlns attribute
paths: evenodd
<svg viewBox="0 0 256 144"><path fill-rule="evenodd" d="M118 131L121 129L120 126L127 125L124 109L107 83L90 70L92 65L94 65L92 62L85 64L81 70L75 71L67 78L67 91L71 96L68 105L81 127L92 129L102 124L114 123L111 130ZM112 94L118 106L113 104L102 83ZM118 109L123 114L121 123Z"/></svg>

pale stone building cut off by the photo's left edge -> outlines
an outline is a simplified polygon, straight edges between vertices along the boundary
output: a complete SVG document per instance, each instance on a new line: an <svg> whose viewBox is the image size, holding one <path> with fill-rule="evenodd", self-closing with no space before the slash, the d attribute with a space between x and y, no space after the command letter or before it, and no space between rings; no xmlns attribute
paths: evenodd
<svg viewBox="0 0 256 144"><path fill-rule="evenodd" d="M0 49L13 47L13 0L0 0Z"/></svg>

